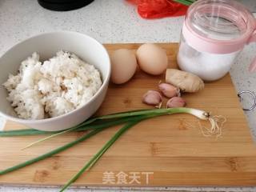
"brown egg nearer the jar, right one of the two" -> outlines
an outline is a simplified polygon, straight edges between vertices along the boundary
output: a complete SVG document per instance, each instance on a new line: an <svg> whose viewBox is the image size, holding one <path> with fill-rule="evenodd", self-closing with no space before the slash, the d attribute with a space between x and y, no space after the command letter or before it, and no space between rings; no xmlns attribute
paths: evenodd
<svg viewBox="0 0 256 192"><path fill-rule="evenodd" d="M140 46L136 52L138 65L148 74L162 74L168 66L166 50L154 43Z"/></svg>

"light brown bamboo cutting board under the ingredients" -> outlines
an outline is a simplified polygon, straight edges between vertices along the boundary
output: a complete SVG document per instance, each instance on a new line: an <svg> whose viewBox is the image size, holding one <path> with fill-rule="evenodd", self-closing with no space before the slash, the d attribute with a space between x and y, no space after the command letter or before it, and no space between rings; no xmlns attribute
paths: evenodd
<svg viewBox="0 0 256 192"><path fill-rule="evenodd" d="M111 53L119 48L136 50L139 44L105 45ZM170 67L176 67L177 44L159 44L166 49ZM141 71L122 86L110 84L98 114L149 108L141 98L156 90L164 76ZM206 83L198 94L184 95L188 106L221 114L227 118L222 136L204 137L198 120L188 114L174 114L146 120L126 132L86 174L77 186L252 186L256 185L256 148L238 101L230 75ZM166 100L165 100L166 102ZM188 123L190 126L188 126ZM0 183L63 185L94 155L120 126L104 130L93 138L42 162L0 176ZM6 130L21 129L14 122ZM0 169L46 153L80 137L65 134L21 150L43 136L0 138ZM148 181L146 181L148 175Z"/></svg>

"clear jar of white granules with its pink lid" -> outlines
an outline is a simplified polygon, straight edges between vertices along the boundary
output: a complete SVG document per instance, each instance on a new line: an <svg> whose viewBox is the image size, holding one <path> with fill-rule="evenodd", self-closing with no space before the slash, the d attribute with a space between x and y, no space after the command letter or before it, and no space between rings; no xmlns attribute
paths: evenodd
<svg viewBox="0 0 256 192"><path fill-rule="evenodd" d="M182 26L178 66L214 81L228 73L250 42L256 42L256 20L245 6L232 0L198 0ZM256 70L256 58L250 70Z"/></svg>

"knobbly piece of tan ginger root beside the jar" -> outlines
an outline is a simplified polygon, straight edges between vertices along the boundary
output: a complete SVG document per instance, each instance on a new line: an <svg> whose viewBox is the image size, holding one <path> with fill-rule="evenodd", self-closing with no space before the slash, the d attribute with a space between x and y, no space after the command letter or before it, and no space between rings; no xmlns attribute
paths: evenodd
<svg viewBox="0 0 256 192"><path fill-rule="evenodd" d="M182 92L195 93L204 88L204 82L195 74L186 71L167 69L166 82L177 86Z"/></svg>

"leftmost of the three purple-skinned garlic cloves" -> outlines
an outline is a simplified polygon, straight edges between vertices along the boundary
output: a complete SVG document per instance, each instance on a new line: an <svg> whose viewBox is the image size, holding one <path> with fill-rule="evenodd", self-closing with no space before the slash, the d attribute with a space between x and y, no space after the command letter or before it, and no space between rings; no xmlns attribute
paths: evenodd
<svg viewBox="0 0 256 192"><path fill-rule="evenodd" d="M160 106L162 95L156 90L148 90L142 97L142 102L150 106Z"/></svg>

